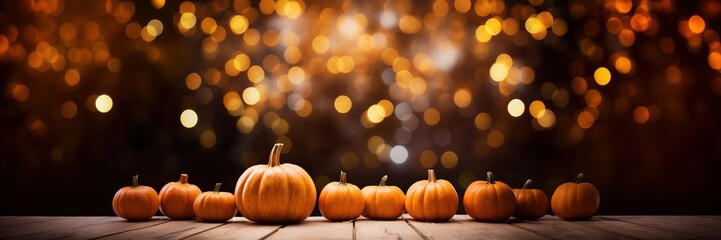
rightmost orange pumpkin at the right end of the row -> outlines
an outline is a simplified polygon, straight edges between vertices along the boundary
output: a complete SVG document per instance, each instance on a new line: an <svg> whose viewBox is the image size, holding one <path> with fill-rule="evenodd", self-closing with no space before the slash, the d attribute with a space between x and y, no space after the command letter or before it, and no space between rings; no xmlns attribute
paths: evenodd
<svg viewBox="0 0 721 240"><path fill-rule="evenodd" d="M551 197L551 209L566 220L585 220L593 217L601 203L601 196L593 184L582 183L583 173L576 181L561 184Z"/></svg>

